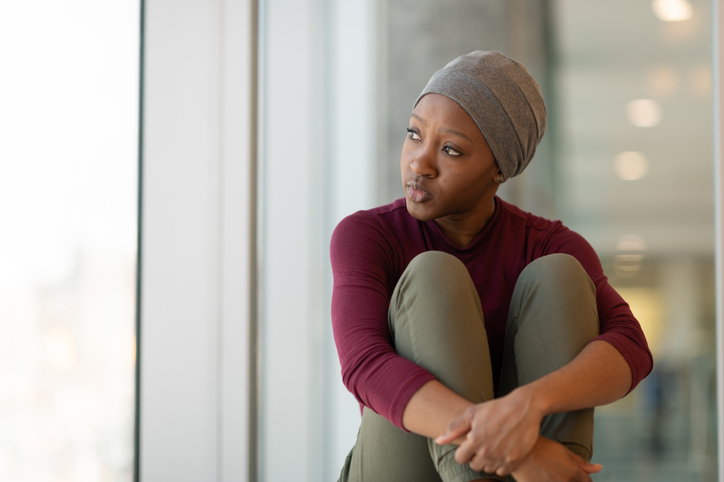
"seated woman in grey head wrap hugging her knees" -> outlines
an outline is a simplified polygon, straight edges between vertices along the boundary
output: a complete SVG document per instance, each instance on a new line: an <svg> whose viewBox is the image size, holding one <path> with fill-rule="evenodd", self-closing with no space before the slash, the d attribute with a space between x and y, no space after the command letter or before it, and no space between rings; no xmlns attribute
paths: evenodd
<svg viewBox="0 0 724 482"><path fill-rule="evenodd" d="M498 197L543 136L525 68L463 55L418 97L405 198L332 237L332 322L363 407L342 481L591 480L593 408L652 368L590 245Z"/></svg>

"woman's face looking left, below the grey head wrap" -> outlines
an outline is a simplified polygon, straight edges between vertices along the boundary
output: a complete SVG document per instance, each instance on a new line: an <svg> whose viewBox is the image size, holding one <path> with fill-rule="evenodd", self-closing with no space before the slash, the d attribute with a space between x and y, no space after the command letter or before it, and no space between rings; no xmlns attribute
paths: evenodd
<svg viewBox="0 0 724 482"><path fill-rule="evenodd" d="M483 219L484 226L492 215L498 166L475 121L449 97L420 99L410 116L400 168L413 217L437 220L441 227Z"/></svg>

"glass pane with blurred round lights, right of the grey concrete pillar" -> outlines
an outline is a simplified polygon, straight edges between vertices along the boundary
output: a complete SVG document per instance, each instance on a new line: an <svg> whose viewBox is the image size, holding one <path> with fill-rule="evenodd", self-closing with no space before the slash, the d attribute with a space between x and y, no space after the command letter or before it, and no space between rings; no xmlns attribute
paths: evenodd
<svg viewBox="0 0 724 482"><path fill-rule="evenodd" d="M597 481L716 480L711 4L554 2L560 216L647 334L597 411Z"/></svg>

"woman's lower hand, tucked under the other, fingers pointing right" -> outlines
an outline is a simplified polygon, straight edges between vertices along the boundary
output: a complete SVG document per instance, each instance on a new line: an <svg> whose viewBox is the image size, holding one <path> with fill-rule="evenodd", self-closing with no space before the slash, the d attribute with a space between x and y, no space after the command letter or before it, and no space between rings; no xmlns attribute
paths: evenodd
<svg viewBox="0 0 724 482"><path fill-rule="evenodd" d="M513 477L518 482L591 482L590 474L602 468L540 436L528 457L513 471Z"/></svg>

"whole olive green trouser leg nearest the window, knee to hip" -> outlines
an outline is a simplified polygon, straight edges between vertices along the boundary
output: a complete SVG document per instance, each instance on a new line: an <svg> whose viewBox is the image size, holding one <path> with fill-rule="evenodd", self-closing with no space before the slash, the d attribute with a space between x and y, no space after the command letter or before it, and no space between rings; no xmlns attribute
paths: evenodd
<svg viewBox="0 0 724 482"><path fill-rule="evenodd" d="M480 298L457 258L437 251L417 256L395 288L389 321L401 356L426 368L472 402L493 398ZM425 437L406 433L365 409L341 480L467 482L499 478L458 464L454 449L454 445L438 446Z"/></svg>

